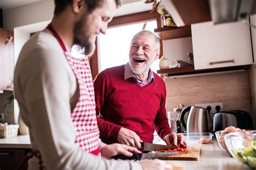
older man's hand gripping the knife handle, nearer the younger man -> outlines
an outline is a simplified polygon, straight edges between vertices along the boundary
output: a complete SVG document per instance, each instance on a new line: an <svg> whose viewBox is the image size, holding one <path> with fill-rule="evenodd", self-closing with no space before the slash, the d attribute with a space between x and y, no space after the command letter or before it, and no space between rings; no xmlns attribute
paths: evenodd
<svg viewBox="0 0 256 170"><path fill-rule="evenodd" d="M126 128L120 129L117 140L120 144L125 144L137 148L140 148L140 142L143 142L135 132Z"/></svg>

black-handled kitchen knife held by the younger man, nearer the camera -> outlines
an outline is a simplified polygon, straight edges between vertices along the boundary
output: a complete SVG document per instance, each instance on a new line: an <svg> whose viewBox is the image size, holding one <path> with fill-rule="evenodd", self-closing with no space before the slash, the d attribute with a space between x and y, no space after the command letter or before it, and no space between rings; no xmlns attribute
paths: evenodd
<svg viewBox="0 0 256 170"><path fill-rule="evenodd" d="M123 154L118 154L113 156L113 159L123 159L123 160L142 160L142 159L153 159L153 158L163 158L167 156L173 156L181 154L181 152L158 152L158 153L133 153L131 157L126 157Z"/></svg>

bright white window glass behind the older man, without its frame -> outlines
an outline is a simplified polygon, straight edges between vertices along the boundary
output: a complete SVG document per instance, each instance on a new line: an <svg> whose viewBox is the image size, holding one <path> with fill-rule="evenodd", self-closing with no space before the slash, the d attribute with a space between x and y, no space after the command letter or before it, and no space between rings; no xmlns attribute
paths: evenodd
<svg viewBox="0 0 256 170"><path fill-rule="evenodd" d="M99 72L106 68L124 65L129 61L129 48L132 37L142 30L144 23L131 24L107 29L99 36ZM145 30L154 32L157 21L146 22ZM153 72L159 69L159 59L151 65Z"/></svg>

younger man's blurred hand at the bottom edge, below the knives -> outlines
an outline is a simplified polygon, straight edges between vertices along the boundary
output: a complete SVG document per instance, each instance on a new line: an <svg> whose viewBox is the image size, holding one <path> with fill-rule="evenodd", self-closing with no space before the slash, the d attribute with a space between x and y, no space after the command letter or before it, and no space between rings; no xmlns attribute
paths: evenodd
<svg viewBox="0 0 256 170"><path fill-rule="evenodd" d="M172 166L166 164L165 161L159 159L145 159L139 161L139 164L142 166L144 170L172 170Z"/></svg>

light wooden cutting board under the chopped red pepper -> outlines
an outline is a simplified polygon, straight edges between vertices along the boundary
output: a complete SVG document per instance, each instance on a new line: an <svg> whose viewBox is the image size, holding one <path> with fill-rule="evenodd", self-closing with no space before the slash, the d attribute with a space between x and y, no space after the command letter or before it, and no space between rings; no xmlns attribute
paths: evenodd
<svg viewBox="0 0 256 170"><path fill-rule="evenodd" d="M187 150L178 155L170 156L170 157L163 157L158 158L162 160L199 160L201 152L201 145L192 145L188 146Z"/></svg>

